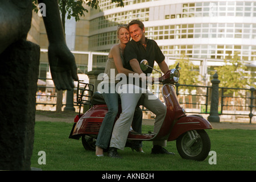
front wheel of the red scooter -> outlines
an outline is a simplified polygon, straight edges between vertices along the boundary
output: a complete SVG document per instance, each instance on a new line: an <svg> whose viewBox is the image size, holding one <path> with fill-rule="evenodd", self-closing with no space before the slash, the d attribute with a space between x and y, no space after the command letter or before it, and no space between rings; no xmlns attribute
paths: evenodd
<svg viewBox="0 0 256 182"><path fill-rule="evenodd" d="M176 140L177 151L184 159L204 160L210 151L210 138L204 130L191 130Z"/></svg>

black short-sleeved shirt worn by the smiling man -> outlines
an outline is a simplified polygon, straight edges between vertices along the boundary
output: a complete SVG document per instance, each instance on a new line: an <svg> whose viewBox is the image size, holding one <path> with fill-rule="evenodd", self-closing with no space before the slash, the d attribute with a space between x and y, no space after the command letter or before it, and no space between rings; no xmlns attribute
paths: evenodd
<svg viewBox="0 0 256 182"><path fill-rule="evenodd" d="M156 63L162 63L165 57L155 40L146 38L146 44L147 46L144 47L141 43L135 42L134 40L131 40L126 44L125 53L123 56L126 63L125 68L133 71L130 66L130 60L132 59L137 59L139 63L141 63L143 59L146 59L150 67L154 67L155 61ZM148 68L143 72L146 73L146 75L147 73L151 74L152 69Z"/></svg>

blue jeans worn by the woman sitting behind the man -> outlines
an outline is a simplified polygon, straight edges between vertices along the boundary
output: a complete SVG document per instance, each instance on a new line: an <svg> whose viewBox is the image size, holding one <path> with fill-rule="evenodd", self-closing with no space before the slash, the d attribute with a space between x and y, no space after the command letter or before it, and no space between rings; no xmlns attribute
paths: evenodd
<svg viewBox="0 0 256 182"><path fill-rule="evenodd" d="M113 85L112 85L113 86ZM96 141L96 146L101 148L108 148L110 138L112 136L112 130L114 127L115 118L118 113L118 100L119 94L117 92L110 93L110 85L109 85L109 93L101 93L104 97L106 105L108 106L108 113L106 113L105 118L102 121L100 131L98 132L98 137ZM134 112L133 130L141 133L142 131L142 110L141 107L136 107ZM136 141L134 143L135 147L141 147L142 142Z"/></svg>

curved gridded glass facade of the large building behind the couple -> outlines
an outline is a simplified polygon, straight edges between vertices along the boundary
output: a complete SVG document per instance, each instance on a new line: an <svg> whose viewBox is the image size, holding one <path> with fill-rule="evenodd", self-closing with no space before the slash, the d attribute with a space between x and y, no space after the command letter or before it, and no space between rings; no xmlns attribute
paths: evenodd
<svg viewBox="0 0 256 182"><path fill-rule="evenodd" d="M152 7L148 2L156 2L156 6ZM213 1L213 2L196 2L196 3L178 3L179 1L170 2L170 5L159 5L160 1L124 1L125 7L129 5L148 5L148 7L138 6L138 9L120 10L111 1L100 1L100 11L112 9L113 13L98 16L90 20L90 33L94 31L104 30L109 27L116 27L118 24L129 23L130 20L140 19L142 22L150 22L157 20L177 20L185 19L182 24L172 23L166 21L162 26L146 27L146 36L154 40L172 40L172 39L250 39L255 40L254 45L234 43L234 45L218 44L209 45L189 45L181 46L180 44L174 45L171 42L168 45L161 46L166 55L177 56L185 53L189 57L207 57L213 59L225 59L229 55L238 53L243 60L256 60L255 42L256 42L256 2L243 2L243 1ZM165 1L167 2L167 1ZM122 10L122 9L121 9ZM163 10L163 11L162 11ZM100 12L99 10L92 10L92 14ZM154 11L154 12L153 12ZM150 15L151 14L151 15ZM158 14L158 16L155 16ZM162 14L162 15L161 15ZM154 18L150 17L154 16ZM216 19L225 16L226 22L216 22ZM195 18L212 18L208 22L199 23ZM236 18L250 18L251 23L243 23L237 19L237 22L229 22L228 20L236 20ZM191 18L191 19L189 19ZM235 19L234 19L235 18ZM170 23L169 23L170 22ZM146 23L145 23L146 24ZM94 34L89 38L90 48L94 51L108 51L108 49L98 49L101 46L113 45L117 43L116 32L102 31L99 34Z"/></svg>

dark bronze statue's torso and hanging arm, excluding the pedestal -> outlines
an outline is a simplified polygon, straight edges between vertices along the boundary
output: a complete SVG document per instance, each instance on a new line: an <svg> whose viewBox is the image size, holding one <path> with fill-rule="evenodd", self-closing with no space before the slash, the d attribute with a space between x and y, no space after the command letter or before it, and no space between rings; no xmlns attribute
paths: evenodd
<svg viewBox="0 0 256 182"><path fill-rule="evenodd" d="M71 90L78 80L75 57L64 39L57 0L38 0L46 5L43 16L49 40L48 60L53 82L58 90ZM10 44L26 39L31 27L31 0L0 0L0 54Z"/></svg>

